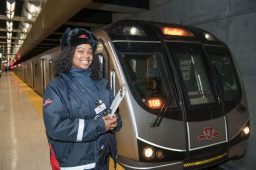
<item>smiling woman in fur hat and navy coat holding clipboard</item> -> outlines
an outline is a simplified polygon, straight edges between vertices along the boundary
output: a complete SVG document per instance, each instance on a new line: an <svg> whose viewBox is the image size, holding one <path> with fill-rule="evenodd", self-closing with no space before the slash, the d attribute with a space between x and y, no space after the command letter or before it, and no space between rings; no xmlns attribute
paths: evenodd
<svg viewBox="0 0 256 170"><path fill-rule="evenodd" d="M46 87L43 104L52 169L116 167L119 113L104 115L114 99L95 51L97 38L88 30L67 28L54 62L57 76Z"/></svg>

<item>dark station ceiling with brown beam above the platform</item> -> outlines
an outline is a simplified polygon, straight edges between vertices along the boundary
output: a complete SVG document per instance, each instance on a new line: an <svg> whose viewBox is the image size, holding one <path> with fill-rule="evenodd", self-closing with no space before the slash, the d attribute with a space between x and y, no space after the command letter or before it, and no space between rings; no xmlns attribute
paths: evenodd
<svg viewBox="0 0 256 170"><path fill-rule="evenodd" d="M9 0L0 0L0 53L3 56L15 53L13 47L20 39L18 35L24 33L20 23L29 22L32 26L10 62L14 59L22 62L58 46L67 27L93 31L112 23L113 15L121 19L125 14L136 15L150 8L149 0L16 0L14 17L9 19L6 1ZM24 16L24 6L28 2L41 5L41 11L34 22ZM13 21L10 54L7 50L7 21Z"/></svg>

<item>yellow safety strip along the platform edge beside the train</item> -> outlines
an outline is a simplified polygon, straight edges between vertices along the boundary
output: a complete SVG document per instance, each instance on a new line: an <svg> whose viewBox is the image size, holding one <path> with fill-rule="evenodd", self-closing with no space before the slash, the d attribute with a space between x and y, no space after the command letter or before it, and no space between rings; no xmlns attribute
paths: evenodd
<svg viewBox="0 0 256 170"><path fill-rule="evenodd" d="M27 98L42 118L42 97L38 95L33 89L31 89L23 80L19 79L13 72L11 72L11 75L15 81L17 81L18 85L22 88L23 92L26 94ZM110 169L114 169L114 162L112 158L110 158ZM116 170L125 169L117 163Z"/></svg>

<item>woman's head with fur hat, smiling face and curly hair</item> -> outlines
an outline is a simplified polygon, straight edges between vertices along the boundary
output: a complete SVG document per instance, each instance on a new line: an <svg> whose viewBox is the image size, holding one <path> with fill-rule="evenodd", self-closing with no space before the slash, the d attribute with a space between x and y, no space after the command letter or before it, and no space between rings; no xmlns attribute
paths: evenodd
<svg viewBox="0 0 256 170"><path fill-rule="evenodd" d="M61 52L53 61L55 76L60 73L67 74L72 67L90 67L91 78L99 80L102 77L102 70L99 58L94 56L97 45L98 40L90 31L67 28L60 39Z"/></svg>

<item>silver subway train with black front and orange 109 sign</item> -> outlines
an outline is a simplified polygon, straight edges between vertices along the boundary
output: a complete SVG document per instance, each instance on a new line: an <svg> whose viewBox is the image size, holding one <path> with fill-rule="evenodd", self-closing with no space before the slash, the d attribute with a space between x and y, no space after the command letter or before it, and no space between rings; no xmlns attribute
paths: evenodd
<svg viewBox="0 0 256 170"><path fill-rule="evenodd" d="M125 169L200 169L245 154L249 113L228 46L191 26L122 20L94 32L103 77L119 109L118 163ZM39 95L54 79L59 47L12 70Z"/></svg>

